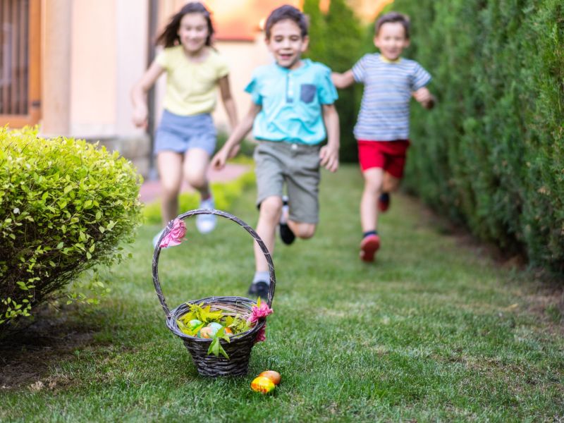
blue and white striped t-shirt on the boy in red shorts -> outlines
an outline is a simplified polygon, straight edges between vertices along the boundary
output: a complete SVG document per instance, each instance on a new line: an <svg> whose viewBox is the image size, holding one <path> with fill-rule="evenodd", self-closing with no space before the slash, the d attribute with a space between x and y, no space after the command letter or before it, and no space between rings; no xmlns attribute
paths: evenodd
<svg viewBox="0 0 564 423"><path fill-rule="evenodd" d="M355 137L357 140L407 140L410 135L411 93L431 81L419 63L400 58L386 61L381 54L365 54L353 66L364 83Z"/></svg>

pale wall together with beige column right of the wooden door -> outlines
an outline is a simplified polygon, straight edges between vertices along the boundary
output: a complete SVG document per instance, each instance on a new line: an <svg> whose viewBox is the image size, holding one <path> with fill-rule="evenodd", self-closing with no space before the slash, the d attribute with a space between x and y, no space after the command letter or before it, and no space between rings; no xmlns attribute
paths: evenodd
<svg viewBox="0 0 564 423"><path fill-rule="evenodd" d="M44 133L142 136L129 92L147 66L148 0L44 0L42 11Z"/></svg>

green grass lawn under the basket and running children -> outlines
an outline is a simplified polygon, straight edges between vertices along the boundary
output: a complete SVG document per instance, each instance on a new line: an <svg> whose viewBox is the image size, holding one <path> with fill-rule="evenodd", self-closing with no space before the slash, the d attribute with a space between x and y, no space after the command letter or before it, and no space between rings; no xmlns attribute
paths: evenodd
<svg viewBox="0 0 564 423"><path fill-rule="evenodd" d="M407 197L393 197L377 263L363 264L361 188L355 166L324 173L317 235L277 244L274 314L247 376L199 376L168 332L151 279L159 228L144 226L133 259L106 275L109 298L44 315L54 322L49 333L1 357L0 372L23 376L1 386L0 421L564 419L558 296L530 272L444 231ZM254 199L250 190L233 209L252 225ZM245 295L254 271L250 236L225 219L209 235L193 222L188 231L187 242L161 254L168 305ZM250 382L266 369L282 382L261 396Z"/></svg>

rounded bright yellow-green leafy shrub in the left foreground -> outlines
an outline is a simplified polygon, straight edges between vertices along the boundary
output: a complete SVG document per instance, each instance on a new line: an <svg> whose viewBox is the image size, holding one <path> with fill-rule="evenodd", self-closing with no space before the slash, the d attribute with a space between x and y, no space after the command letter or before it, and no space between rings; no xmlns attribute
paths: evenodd
<svg viewBox="0 0 564 423"><path fill-rule="evenodd" d="M140 223L141 181L117 152L84 140L0 128L0 145L2 331L86 269L122 258L118 245Z"/></svg>

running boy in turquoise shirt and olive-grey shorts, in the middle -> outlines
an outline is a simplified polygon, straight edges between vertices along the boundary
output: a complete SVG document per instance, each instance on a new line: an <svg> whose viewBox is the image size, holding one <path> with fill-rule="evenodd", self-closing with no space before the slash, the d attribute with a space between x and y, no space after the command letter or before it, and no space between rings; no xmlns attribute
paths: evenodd
<svg viewBox="0 0 564 423"><path fill-rule="evenodd" d="M265 24L266 45L276 63L255 70L245 88L252 106L247 116L212 159L223 168L245 135L253 129L257 173L257 233L272 253L276 228L290 244L314 235L319 220L319 167L338 168L339 123L333 103L336 88L331 71L321 63L301 59L307 49L307 20L293 6L271 12ZM321 142L327 138L327 145ZM288 191L288 207L283 185ZM255 243L256 272L250 295L266 298L269 269Z"/></svg>

